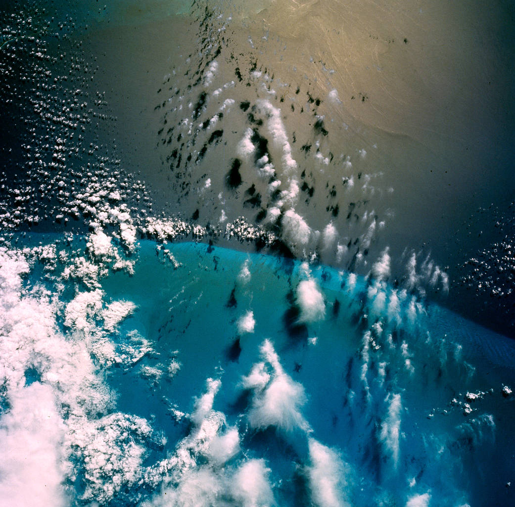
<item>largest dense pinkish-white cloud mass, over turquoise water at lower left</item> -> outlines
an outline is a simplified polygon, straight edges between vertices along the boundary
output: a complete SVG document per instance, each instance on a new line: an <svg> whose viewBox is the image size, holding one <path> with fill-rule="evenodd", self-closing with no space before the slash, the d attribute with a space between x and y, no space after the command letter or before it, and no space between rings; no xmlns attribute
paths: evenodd
<svg viewBox="0 0 515 507"><path fill-rule="evenodd" d="M20 257L14 260L18 268L0 262L0 277L11 277L10 283L0 284L0 371L7 374L11 404L0 430L3 447L10 449L5 466L24 483L18 494L30 493L38 504L67 504L64 480L80 480L82 500L107 503L141 480L142 460L150 441L156 440L145 419L120 413L101 416L112 411L114 401L92 361L95 337L103 333L101 326L93 329L103 293L79 294L65 307L72 332L62 335L55 320L62 306L56 300L51 303L45 291L24 293L15 278L26 263ZM78 334L77 329L89 333ZM26 376L28 370L36 379ZM0 474L3 499L14 494L9 484L16 481L5 471ZM10 504L34 503L26 499Z"/></svg>

